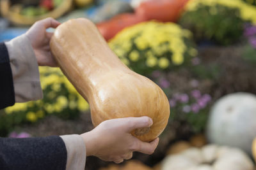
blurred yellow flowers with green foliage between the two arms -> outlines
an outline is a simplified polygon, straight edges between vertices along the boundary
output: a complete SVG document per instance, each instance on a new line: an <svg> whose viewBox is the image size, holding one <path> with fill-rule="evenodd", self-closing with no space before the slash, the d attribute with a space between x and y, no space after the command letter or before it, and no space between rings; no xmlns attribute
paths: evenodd
<svg viewBox="0 0 256 170"><path fill-rule="evenodd" d="M89 109L59 68L40 67L40 81L44 98L28 103L16 103L0 112L0 134L6 135L14 125L33 123L47 115L76 118Z"/></svg>

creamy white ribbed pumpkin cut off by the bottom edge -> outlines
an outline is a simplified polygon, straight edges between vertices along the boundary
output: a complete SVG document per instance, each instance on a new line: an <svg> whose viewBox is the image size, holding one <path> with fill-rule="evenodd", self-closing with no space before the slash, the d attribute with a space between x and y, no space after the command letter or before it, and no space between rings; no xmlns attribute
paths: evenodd
<svg viewBox="0 0 256 170"><path fill-rule="evenodd" d="M252 160L238 148L206 145L169 155L161 170L253 170Z"/></svg>

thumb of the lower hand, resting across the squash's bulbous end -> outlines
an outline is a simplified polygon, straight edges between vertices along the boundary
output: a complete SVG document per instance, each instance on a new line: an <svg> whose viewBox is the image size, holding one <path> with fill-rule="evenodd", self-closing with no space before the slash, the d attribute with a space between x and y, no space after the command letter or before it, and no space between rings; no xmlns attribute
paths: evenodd
<svg viewBox="0 0 256 170"><path fill-rule="evenodd" d="M123 125L125 125L125 131L131 132L134 129L150 127L153 124L153 120L150 117L129 117L125 118Z"/></svg>

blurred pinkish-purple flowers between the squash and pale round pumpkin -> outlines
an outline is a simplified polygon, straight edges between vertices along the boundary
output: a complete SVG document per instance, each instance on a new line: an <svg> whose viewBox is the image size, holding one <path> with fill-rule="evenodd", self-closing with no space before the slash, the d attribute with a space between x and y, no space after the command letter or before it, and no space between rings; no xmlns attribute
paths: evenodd
<svg viewBox="0 0 256 170"><path fill-rule="evenodd" d="M193 132L203 132L212 97L209 94L202 94L198 89L193 89L188 93L175 92L173 94L170 90L170 81L160 71L154 71L152 78L168 96L171 107L170 121L185 121L192 127Z"/></svg>

